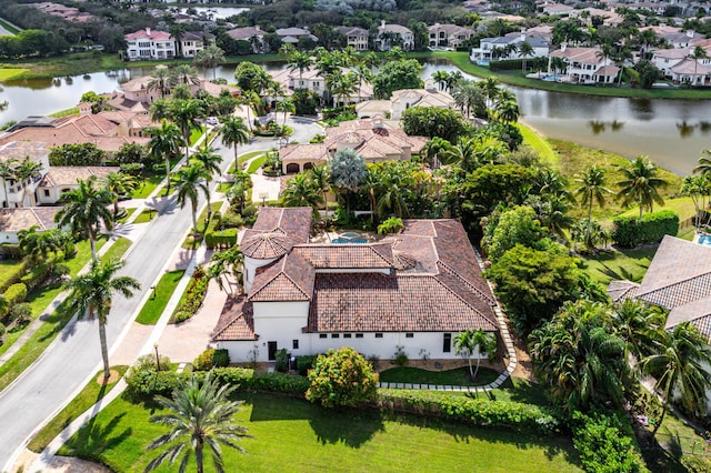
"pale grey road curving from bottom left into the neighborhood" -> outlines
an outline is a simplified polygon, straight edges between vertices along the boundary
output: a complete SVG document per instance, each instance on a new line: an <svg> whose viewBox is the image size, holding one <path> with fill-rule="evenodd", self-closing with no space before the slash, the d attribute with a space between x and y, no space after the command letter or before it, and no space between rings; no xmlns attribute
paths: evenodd
<svg viewBox="0 0 711 473"><path fill-rule="evenodd" d="M293 141L308 142L320 127L312 121L290 119L294 128ZM222 170L233 160L231 148L219 140L217 152L224 161ZM240 154L273 147L273 140L257 140L240 147ZM199 208L204 204L200 199ZM141 284L131 299L117 296L107 324L109 353L122 331L133 321L140 303L160 275L169 259L182 244L191 225L190 205L180 209L174 198L166 203L160 217L126 254L126 266L121 274L136 278ZM43 424L54 410L67 401L81 383L101 368L99 331L96 322L72 321L52 342L44 353L24 373L0 393L0 465L9 471L9 464L24 446L24 442L37 427ZM8 463L8 464L6 464Z"/></svg>

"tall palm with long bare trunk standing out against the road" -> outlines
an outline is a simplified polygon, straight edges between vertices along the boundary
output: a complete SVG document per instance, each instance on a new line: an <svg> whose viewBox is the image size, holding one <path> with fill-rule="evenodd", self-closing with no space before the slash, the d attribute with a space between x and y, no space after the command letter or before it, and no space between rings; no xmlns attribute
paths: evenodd
<svg viewBox="0 0 711 473"><path fill-rule="evenodd" d="M130 298L134 290L141 289L141 285L133 278L116 275L123 264L122 261L100 263L94 256L88 273L77 275L64 284L64 288L71 291L67 298L69 306L76 309L80 318L87 316L89 320L97 318L99 321L104 380L108 380L110 375L107 321L113 294L119 293Z"/></svg>

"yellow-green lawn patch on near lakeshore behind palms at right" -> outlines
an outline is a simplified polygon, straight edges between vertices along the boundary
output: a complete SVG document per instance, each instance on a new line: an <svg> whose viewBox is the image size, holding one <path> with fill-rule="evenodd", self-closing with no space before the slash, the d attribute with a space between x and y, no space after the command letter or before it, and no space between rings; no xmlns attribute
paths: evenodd
<svg viewBox="0 0 711 473"><path fill-rule="evenodd" d="M623 179L622 173L620 172L620 167L628 167L630 160L619 154L580 147L568 141L548 140L548 142L558 152L560 158L560 170L568 177L568 180L570 181L569 189L571 191L574 191L580 185L575 182L575 174L584 172L593 163L604 170L605 187L611 190L612 193L608 194L604 208L601 209L598 204L593 204L593 219L608 220L628 210L622 207L622 202L615 199L615 197L619 190L617 183ZM659 191L660 195L664 199L675 197L681 188L681 178L665 169L660 169L658 175L669 183L669 185ZM659 207L657 205L655 208ZM632 212L634 211L634 209L629 210ZM639 212L639 210L637 212ZM577 207L572 209L571 213L573 217L579 219L587 218L588 209Z"/></svg>

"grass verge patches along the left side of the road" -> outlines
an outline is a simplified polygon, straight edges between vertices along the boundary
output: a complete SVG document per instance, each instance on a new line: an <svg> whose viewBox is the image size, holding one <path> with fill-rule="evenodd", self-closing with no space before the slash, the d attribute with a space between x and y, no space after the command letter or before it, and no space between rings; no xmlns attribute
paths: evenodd
<svg viewBox="0 0 711 473"><path fill-rule="evenodd" d="M106 243L106 238L97 242L97 251L103 243ZM114 243L114 248L107 252L101 260L109 261L111 259L118 259L128 246L130 246L128 240L119 239L119 241ZM77 250L77 255L67 262L71 275L76 275L90 259L89 242L82 241L78 243ZM38 318L60 292L61 286L47 286L40 291L30 293L27 302L29 302L32 308L32 316ZM42 354L47 346L49 346L54 338L62 331L67 322L71 320L72 315L72 308L69 308L64 301L54 312L47 316L37 332L32 334L10 360L0 366L0 391L6 389ZM10 344L8 343L0 346L0 353L4 352L9 346Z"/></svg>

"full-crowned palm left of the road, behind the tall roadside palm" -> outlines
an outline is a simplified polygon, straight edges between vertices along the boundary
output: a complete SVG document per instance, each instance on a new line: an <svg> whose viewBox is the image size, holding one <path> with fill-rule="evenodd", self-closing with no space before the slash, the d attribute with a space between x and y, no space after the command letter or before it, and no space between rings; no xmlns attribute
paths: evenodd
<svg viewBox="0 0 711 473"><path fill-rule="evenodd" d="M96 175L86 181L79 181L79 188L62 194L63 207L54 215L57 227L69 225L73 234L84 234L89 238L91 259L97 259L96 241L99 224L107 230L113 230L113 214L108 207L113 202L113 194L99 185Z"/></svg>

